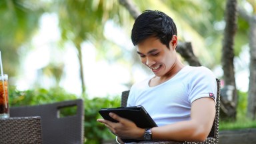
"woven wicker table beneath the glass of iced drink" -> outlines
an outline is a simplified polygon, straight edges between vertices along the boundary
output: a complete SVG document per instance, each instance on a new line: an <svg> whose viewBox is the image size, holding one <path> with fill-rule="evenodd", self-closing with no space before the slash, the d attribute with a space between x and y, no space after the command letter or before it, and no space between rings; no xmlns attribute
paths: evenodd
<svg viewBox="0 0 256 144"><path fill-rule="evenodd" d="M0 143L42 143L40 117L0 119Z"/></svg>

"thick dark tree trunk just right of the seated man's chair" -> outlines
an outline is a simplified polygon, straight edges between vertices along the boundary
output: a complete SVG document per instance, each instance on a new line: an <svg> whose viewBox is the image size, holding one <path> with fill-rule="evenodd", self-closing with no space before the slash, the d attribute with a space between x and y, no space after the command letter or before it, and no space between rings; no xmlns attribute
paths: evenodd
<svg viewBox="0 0 256 144"><path fill-rule="evenodd" d="M234 37L237 30L237 1L228 0L225 11L226 26L224 30L223 39L223 53L221 57L221 64L223 67L223 79L225 87L223 88L223 95L221 95L221 109L224 113L222 117L231 119L236 118L237 108L237 89L235 85L235 72L234 72Z"/></svg>

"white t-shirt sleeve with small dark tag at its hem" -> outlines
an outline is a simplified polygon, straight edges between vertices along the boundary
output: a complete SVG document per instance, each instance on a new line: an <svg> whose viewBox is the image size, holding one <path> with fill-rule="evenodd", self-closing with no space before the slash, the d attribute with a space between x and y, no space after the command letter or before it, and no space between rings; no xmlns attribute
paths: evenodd
<svg viewBox="0 0 256 144"><path fill-rule="evenodd" d="M202 97L211 97L216 103L217 83L213 72L201 67L200 73L192 74L189 79L188 94L191 105L193 101Z"/></svg>

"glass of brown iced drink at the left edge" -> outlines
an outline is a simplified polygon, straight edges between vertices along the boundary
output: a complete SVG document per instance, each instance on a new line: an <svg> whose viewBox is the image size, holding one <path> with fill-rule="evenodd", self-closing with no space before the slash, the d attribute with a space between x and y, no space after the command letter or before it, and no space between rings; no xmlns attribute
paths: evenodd
<svg viewBox="0 0 256 144"><path fill-rule="evenodd" d="M0 118L9 117L8 75L0 75Z"/></svg>

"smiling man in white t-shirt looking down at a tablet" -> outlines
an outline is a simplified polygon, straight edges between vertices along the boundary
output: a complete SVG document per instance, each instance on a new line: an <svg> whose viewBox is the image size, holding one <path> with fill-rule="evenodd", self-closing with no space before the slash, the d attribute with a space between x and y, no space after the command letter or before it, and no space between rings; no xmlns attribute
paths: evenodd
<svg viewBox="0 0 256 144"><path fill-rule="evenodd" d="M143 105L159 127L139 128L128 119L104 123L121 139L204 141L215 118L217 84L205 67L185 66L177 57L177 29L161 11L144 11L133 25L131 40L153 76L131 87L127 106ZM150 135L150 137L144 137Z"/></svg>

